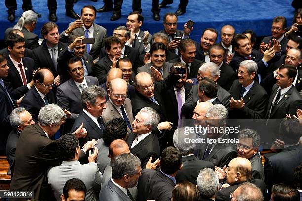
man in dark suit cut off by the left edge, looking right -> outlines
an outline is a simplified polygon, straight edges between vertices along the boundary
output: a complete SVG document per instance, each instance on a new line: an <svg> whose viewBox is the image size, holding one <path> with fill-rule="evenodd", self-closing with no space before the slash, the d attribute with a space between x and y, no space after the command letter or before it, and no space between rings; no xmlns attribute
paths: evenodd
<svg viewBox="0 0 302 201"><path fill-rule="evenodd" d="M11 98L7 88L3 82L3 78L7 77L9 73L9 67L7 61L3 55L0 55L0 126L2 128L2 134L0 135L0 152L4 154L7 136L12 130L9 122L9 115L16 107L15 101Z"/></svg>

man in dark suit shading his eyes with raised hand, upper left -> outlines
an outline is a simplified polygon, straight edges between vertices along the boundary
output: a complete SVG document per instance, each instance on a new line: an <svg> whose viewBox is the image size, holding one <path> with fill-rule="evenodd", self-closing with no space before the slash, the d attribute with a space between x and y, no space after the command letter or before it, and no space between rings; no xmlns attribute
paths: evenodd
<svg viewBox="0 0 302 201"><path fill-rule="evenodd" d="M91 76L94 70L93 58L91 55L85 53L85 44L82 43L84 36L73 35L70 37L70 45L63 49L58 56L57 71L60 75L60 83L69 80L70 74L68 73L68 60L73 56L78 56L82 60L83 70L85 76Z"/></svg>

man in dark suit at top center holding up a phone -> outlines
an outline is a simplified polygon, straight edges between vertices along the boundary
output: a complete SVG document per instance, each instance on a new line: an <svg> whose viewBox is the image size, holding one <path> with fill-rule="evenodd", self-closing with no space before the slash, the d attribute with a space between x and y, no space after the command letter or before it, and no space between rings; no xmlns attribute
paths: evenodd
<svg viewBox="0 0 302 201"><path fill-rule="evenodd" d="M164 29L157 33L165 33L169 37L169 44L167 45L168 50L179 54L179 43L181 39L189 38L192 28L187 28L187 24L184 25L184 30L177 29L177 15L175 13L166 13L163 17ZM177 39L175 39L177 38Z"/></svg>

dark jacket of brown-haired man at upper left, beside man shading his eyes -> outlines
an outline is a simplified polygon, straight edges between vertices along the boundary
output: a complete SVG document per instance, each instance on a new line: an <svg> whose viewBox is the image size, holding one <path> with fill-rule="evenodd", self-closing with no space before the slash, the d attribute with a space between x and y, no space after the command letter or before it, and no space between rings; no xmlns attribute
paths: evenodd
<svg viewBox="0 0 302 201"><path fill-rule="evenodd" d="M58 43L58 58L63 49L67 47L66 43L59 42ZM52 71L54 77L58 75L57 69L54 67L53 62L51 60L51 55L49 54L48 47L46 42L39 46L38 48L33 50L33 59L35 61L36 69L47 67Z"/></svg>

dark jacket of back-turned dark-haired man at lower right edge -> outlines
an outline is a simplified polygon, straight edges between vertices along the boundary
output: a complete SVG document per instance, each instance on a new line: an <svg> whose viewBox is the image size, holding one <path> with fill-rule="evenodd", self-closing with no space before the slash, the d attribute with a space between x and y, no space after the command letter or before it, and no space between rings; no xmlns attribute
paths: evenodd
<svg viewBox="0 0 302 201"><path fill-rule="evenodd" d="M273 156L265 157L265 183L269 191L274 184L293 184L295 168L301 163L301 144L289 146Z"/></svg>

